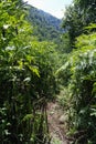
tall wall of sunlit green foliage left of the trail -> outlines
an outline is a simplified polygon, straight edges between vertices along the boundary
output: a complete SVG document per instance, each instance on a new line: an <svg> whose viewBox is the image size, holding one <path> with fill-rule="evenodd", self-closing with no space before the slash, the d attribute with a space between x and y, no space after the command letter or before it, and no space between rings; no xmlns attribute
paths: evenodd
<svg viewBox="0 0 96 144"><path fill-rule="evenodd" d="M0 1L0 143L49 143L46 103L56 91L55 45L38 42L20 0Z"/></svg>

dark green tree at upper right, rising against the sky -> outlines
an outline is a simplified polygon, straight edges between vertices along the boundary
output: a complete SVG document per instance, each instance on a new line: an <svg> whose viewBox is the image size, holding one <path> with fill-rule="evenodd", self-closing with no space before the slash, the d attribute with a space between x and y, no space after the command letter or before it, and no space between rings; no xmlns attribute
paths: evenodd
<svg viewBox="0 0 96 144"><path fill-rule="evenodd" d="M70 50L75 47L76 37L87 33L84 28L89 23L96 23L96 0L74 0L73 3L66 8L63 18L63 28L65 33L68 33ZM67 45L66 45L66 49Z"/></svg>

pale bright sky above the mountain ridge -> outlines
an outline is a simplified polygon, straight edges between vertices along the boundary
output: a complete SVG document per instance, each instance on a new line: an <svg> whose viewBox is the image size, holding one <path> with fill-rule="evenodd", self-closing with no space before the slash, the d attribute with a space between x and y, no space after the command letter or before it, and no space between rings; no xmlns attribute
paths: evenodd
<svg viewBox="0 0 96 144"><path fill-rule="evenodd" d="M41 9L45 12L51 13L56 18L63 18L65 7L72 3L73 0L24 0L28 1L29 4Z"/></svg>

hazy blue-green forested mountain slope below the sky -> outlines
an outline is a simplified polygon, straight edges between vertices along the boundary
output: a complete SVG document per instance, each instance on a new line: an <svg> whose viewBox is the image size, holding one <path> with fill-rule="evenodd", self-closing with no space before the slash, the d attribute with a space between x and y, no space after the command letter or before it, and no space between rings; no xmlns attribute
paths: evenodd
<svg viewBox="0 0 96 144"><path fill-rule="evenodd" d="M32 6L29 6L29 20L34 27L33 34L36 35L40 41L47 40L55 41L56 43L61 41L62 20Z"/></svg>

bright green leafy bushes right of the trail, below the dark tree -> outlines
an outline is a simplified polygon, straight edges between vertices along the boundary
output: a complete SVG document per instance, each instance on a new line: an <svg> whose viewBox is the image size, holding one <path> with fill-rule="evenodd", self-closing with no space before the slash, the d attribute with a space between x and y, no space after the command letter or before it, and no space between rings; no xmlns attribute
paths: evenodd
<svg viewBox="0 0 96 144"><path fill-rule="evenodd" d="M93 28L92 28L93 29ZM64 96L75 144L96 142L96 33L77 38L67 63L58 70L67 88Z"/></svg>

